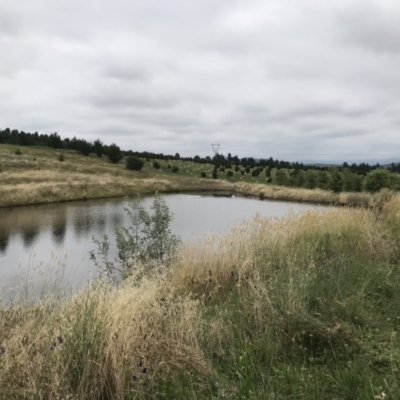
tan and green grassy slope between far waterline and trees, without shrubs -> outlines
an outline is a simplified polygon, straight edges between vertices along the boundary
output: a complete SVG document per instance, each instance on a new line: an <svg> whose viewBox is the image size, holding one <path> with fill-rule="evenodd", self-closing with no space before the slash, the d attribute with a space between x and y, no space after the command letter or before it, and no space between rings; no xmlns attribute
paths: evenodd
<svg viewBox="0 0 400 400"><path fill-rule="evenodd" d="M21 154L16 154L21 153ZM63 161L60 161L62 156ZM161 163L163 164L163 163ZM261 177L201 179L199 173L211 165L176 161L179 172L162 165L154 169L146 162L140 172L128 171L123 163L111 164L95 155L85 157L71 151L47 147L0 145L0 207L54 203L82 199L133 196L158 192L224 191L265 199L374 207L383 204L389 192L333 193L321 189L296 189L267 185ZM261 183L263 182L263 183Z"/></svg>

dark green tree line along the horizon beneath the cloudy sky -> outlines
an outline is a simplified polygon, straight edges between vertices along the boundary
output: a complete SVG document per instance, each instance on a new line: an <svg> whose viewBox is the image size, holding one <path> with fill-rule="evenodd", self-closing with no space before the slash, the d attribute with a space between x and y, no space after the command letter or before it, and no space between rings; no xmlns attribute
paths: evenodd
<svg viewBox="0 0 400 400"><path fill-rule="evenodd" d="M251 171L253 176L258 176L263 170L265 170L267 181L268 178L272 181L271 171L276 168L276 183L279 185L308 187L311 189L314 187L320 187L334 191L362 190L364 177L374 170L382 170L382 167L379 164L370 165L368 163L353 163L349 165L345 162L342 166L332 168L331 166L305 165L301 162L283 161L273 159L272 157L265 159L255 159L253 157L239 158L237 155L233 156L231 153L228 153L227 156L216 154L211 158L210 156L200 157L198 155L194 157L181 157L179 153L175 153L175 155L166 155L163 153L152 153L148 151L123 151L115 143L106 145L100 139L93 142L88 142L85 139L77 139L76 137L73 137L72 139L62 139L57 132L41 134L38 132L30 133L18 131L17 129L11 130L10 128L4 130L0 129L0 143L18 146L47 146L54 149L75 150L85 156L88 156L91 153L96 154L98 157L104 155L113 163L117 163L126 157L127 168L136 170L140 170L143 167L142 159L167 161L182 160L199 164L213 164L213 177L217 176L217 170L228 170L228 174L232 175L232 172L229 170L234 169L235 171L238 171L242 168L241 171L243 174ZM290 172L285 172L285 170L290 170ZM386 171L400 172L400 164L392 163ZM379 175L379 173L377 175ZM380 173L380 176L381 175L382 173ZM392 181L393 179L395 178L392 178ZM336 183L334 183L335 180ZM386 180L384 179L385 182ZM394 184L393 182L391 185L397 186L397 184Z"/></svg>

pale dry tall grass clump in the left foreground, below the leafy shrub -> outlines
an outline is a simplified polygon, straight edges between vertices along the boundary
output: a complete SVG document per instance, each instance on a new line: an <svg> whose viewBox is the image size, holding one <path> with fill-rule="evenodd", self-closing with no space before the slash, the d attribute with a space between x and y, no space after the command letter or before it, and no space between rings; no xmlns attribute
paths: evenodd
<svg viewBox="0 0 400 400"><path fill-rule="evenodd" d="M0 386L18 399L125 398L182 370L205 376L211 366L197 338L198 308L160 278L2 310Z"/></svg>

